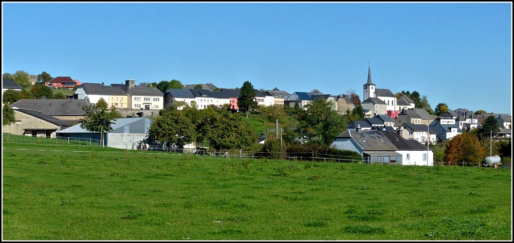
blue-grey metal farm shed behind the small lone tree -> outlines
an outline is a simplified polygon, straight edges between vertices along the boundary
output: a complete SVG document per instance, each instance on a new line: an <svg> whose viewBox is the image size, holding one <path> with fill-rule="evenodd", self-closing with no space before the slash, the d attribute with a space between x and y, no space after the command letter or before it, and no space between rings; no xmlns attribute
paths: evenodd
<svg viewBox="0 0 514 243"><path fill-rule="evenodd" d="M119 149L136 149L137 143L148 135L153 120L147 117L118 118L112 125L113 130L104 133L104 145ZM101 132L90 132L80 124L57 132L58 138L101 140Z"/></svg>

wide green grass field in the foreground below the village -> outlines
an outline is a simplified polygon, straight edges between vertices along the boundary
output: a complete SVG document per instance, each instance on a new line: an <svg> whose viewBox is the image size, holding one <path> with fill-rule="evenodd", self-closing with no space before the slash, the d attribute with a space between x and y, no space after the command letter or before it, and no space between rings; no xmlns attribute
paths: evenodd
<svg viewBox="0 0 514 243"><path fill-rule="evenodd" d="M511 240L509 169L3 143L3 240Z"/></svg>

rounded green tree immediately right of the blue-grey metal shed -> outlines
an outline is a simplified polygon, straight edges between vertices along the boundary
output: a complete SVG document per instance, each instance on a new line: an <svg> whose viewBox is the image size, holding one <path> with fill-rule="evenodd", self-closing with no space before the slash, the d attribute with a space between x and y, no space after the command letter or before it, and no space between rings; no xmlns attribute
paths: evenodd
<svg viewBox="0 0 514 243"><path fill-rule="evenodd" d="M182 111L168 110L163 116L154 120L148 135L167 146L183 147L195 141L196 128L191 123L191 118Z"/></svg>

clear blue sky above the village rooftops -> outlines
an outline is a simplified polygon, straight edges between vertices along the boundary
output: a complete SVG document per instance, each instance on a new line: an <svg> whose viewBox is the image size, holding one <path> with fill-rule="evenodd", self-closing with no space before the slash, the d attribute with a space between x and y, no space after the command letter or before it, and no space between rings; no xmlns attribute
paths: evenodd
<svg viewBox="0 0 514 243"><path fill-rule="evenodd" d="M212 83L512 112L512 3L2 3L2 73Z"/></svg>

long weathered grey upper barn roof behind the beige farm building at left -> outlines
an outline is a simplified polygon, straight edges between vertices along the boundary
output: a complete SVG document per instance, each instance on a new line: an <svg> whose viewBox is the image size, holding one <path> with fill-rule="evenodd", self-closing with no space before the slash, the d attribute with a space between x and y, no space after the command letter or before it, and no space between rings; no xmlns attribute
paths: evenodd
<svg viewBox="0 0 514 243"><path fill-rule="evenodd" d="M10 107L40 111L47 115L83 116L86 112L82 108L89 105L86 99L20 99Z"/></svg>

